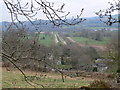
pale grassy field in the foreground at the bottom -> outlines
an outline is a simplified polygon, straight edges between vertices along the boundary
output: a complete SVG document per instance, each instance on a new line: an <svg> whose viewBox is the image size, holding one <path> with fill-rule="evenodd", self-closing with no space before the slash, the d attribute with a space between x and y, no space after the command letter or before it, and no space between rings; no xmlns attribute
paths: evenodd
<svg viewBox="0 0 120 90"><path fill-rule="evenodd" d="M40 74L43 76L40 77ZM45 88L78 88L81 86L88 86L93 80L86 78L70 78L66 77L65 82L62 82L61 76L58 73L38 73L37 78L33 78L35 72L27 71L26 75L29 76L33 82L44 85ZM46 75L46 77L44 77ZM6 71L3 69L2 73L2 87L3 88L33 88L33 86L27 84L22 74L17 71ZM40 85L36 86L41 88Z"/></svg>

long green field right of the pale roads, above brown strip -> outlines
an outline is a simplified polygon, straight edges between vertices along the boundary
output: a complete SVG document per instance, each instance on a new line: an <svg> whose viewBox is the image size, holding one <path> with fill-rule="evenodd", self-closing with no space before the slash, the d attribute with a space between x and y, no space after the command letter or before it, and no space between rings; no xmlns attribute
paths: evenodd
<svg viewBox="0 0 120 90"><path fill-rule="evenodd" d="M90 45L106 45L109 43L109 38L103 38L102 41L97 41L89 38L84 37L71 37L73 40L81 43L81 44L90 44Z"/></svg>

